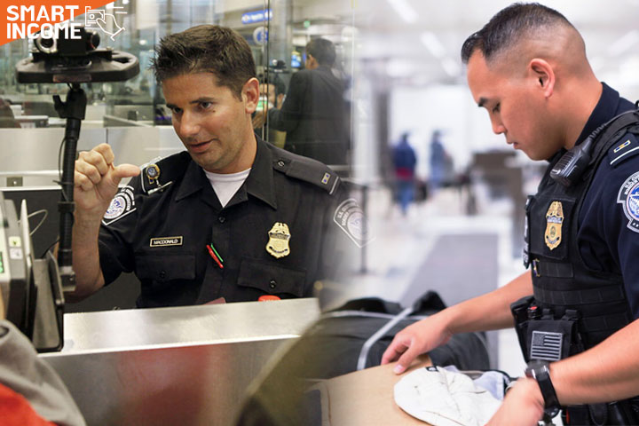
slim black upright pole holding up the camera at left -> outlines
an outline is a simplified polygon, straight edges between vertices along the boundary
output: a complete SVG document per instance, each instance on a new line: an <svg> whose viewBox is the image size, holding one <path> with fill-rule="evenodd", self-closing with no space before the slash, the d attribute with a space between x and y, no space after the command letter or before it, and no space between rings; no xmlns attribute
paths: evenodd
<svg viewBox="0 0 639 426"><path fill-rule="evenodd" d="M58 203L59 221L59 251L58 264L61 284L64 291L75 290L75 272L73 271L73 256L71 254L71 239L74 222L74 173L75 150L80 138L80 123L86 111L86 94L80 83L72 83L67 93L67 101L62 102L58 95L53 97L55 109L60 118L67 119L64 137L64 155L62 157L62 195Z"/></svg>

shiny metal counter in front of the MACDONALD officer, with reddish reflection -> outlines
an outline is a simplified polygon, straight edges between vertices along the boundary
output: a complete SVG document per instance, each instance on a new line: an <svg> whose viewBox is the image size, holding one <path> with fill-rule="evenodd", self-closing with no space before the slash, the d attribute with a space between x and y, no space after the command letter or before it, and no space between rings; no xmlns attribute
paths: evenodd
<svg viewBox="0 0 639 426"><path fill-rule="evenodd" d="M319 316L317 299L65 315L42 354L89 425L229 425L273 352Z"/></svg>

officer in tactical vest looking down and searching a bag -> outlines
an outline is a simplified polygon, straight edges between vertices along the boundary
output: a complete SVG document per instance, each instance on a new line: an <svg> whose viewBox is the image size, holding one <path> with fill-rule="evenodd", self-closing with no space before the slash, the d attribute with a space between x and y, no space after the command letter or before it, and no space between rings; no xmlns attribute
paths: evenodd
<svg viewBox="0 0 639 426"><path fill-rule="evenodd" d="M576 28L540 4L497 13L461 57L493 131L549 162L526 205L530 269L406 327L383 363L401 373L452 334L512 327L514 314L530 362L489 424L534 425L560 407L564 424L637 424L639 114L596 79Z"/></svg>

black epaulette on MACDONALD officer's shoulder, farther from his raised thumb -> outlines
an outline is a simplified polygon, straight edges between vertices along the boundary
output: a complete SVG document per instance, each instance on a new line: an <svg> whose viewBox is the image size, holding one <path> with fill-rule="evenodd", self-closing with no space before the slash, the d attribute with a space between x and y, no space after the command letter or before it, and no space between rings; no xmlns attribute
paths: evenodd
<svg viewBox="0 0 639 426"><path fill-rule="evenodd" d="M289 153L282 149L272 151L273 169L278 170L288 177L294 177L312 185L319 186L333 195L340 185L340 178L334 170L331 170L323 162L312 158Z"/></svg>

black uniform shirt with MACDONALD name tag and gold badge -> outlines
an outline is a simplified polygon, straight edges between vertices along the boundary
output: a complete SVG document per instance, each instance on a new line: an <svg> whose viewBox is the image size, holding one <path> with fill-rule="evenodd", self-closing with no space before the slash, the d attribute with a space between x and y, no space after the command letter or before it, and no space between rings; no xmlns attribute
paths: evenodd
<svg viewBox="0 0 639 426"><path fill-rule="evenodd" d="M135 272L139 307L312 296L355 247L349 237L363 237L361 210L335 172L259 138L247 180L224 208L188 153L157 166L157 179L146 168L116 194L99 233L106 283ZM272 256L267 243L285 252L287 233L289 254Z"/></svg>

